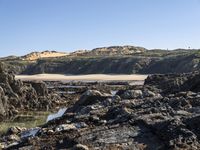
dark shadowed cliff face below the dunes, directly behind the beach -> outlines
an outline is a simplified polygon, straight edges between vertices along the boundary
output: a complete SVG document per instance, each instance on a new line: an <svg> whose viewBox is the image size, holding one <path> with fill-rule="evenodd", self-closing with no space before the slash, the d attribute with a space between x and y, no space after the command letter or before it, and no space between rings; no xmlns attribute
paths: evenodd
<svg viewBox="0 0 200 150"><path fill-rule="evenodd" d="M200 58L195 55L159 57L99 57L67 59L64 61L41 60L27 66L21 74L154 74L184 73L200 69Z"/></svg>

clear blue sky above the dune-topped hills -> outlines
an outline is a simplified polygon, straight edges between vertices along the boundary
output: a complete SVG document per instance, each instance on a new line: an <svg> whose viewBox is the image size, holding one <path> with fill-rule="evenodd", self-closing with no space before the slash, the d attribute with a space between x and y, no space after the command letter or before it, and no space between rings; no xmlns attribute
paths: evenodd
<svg viewBox="0 0 200 150"><path fill-rule="evenodd" d="M200 48L200 0L0 0L0 56L113 45Z"/></svg>

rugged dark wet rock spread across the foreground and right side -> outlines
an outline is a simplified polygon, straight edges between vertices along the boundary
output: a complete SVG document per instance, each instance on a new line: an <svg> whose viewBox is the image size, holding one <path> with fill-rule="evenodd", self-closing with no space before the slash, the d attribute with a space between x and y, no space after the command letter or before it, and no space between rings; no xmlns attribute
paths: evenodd
<svg viewBox="0 0 200 150"><path fill-rule="evenodd" d="M9 129L0 145L5 149L198 150L198 76L153 75L144 86L49 82L49 91L67 99L65 112L34 129Z"/></svg>

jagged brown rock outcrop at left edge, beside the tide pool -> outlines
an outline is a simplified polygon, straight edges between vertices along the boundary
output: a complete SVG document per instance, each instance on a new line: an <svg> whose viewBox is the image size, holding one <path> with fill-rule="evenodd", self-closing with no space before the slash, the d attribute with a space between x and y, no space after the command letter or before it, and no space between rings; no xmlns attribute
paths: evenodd
<svg viewBox="0 0 200 150"><path fill-rule="evenodd" d="M24 110L46 110L53 107L59 96L48 92L44 82L15 80L0 63L0 121Z"/></svg>

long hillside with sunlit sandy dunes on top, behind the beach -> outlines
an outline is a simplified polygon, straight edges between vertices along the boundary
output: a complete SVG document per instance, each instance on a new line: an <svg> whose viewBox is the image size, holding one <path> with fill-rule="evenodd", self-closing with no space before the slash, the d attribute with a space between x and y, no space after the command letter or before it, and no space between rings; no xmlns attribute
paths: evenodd
<svg viewBox="0 0 200 150"><path fill-rule="evenodd" d="M183 73L200 69L200 50L112 46L71 53L34 52L1 61L17 74Z"/></svg>

